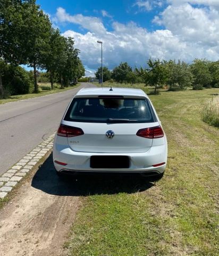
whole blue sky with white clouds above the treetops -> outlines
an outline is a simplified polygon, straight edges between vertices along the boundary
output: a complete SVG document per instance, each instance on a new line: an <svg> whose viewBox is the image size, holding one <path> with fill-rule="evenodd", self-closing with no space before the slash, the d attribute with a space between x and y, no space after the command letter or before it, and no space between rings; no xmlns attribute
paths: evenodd
<svg viewBox="0 0 219 256"><path fill-rule="evenodd" d="M74 38L87 75L103 63L146 66L148 58L219 59L218 0L37 0L53 26Z"/></svg>

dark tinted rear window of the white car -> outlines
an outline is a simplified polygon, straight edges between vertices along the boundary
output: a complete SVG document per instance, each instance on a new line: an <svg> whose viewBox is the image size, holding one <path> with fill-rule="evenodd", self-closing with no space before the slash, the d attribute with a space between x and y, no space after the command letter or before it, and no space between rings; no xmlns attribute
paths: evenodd
<svg viewBox="0 0 219 256"><path fill-rule="evenodd" d="M147 99L74 98L65 121L86 123L152 123L156 116Z"/></svg>

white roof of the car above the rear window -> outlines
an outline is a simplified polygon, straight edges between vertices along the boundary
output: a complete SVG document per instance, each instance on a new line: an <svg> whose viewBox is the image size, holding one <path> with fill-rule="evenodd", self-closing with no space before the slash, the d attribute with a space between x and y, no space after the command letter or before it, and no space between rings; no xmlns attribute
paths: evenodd
<svg viewBox="0 0 219 256"><path fill-rule="evenodd" d="M96 97L97 95L121 95L131 97L139 97L139 98L148 98L147 94L141 89L131 89L131 88L114 88L112 87L112 91L110 87L90 87L90 88L82 88L75 97Z"/></svg>

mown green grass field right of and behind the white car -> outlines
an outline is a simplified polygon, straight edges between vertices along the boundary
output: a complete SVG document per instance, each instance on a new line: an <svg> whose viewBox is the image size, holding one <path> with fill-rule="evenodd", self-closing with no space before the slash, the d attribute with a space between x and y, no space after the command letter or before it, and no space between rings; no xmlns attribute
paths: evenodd
<svg viewBox="0 0 219 256"><path fill-rule="evenodd" d="M69 255L219 255L219 130L201 120L204 102L218 92L150 96L169 142L163 179L89 180Z"/></svg>

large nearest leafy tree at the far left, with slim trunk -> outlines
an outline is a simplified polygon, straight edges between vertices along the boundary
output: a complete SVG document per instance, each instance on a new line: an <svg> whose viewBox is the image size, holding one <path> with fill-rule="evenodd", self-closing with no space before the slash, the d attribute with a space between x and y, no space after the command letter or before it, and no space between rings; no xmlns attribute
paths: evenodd
<svg viewBox="0 0 219 256"><path fill-rule="evenodd" d="M0 57L13 65L29 64L34 69L35 92L41 56L48 51L51 23L39 10L36 0L2 0L0 2ZM2 75L2 74L0 74ZM0 93L1 93L0 79Z"/></svg>

